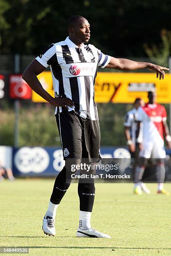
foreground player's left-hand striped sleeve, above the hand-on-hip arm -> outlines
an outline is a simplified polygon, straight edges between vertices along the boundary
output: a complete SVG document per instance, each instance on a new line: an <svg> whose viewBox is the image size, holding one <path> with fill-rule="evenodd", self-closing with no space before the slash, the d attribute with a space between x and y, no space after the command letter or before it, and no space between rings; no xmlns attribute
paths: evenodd
<svg viewBox="0 0 171 256"><path fill-rule="evenodd" d="M56 47L54 44L51 44L39 56L36 57L36 60L47 68L51 64L49 60L54 54L56 54Z"/></svg>

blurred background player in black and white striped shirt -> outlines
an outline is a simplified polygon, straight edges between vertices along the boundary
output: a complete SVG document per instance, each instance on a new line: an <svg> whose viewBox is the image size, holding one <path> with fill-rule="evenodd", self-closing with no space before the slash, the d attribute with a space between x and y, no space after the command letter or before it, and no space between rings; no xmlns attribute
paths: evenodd
<svg viewBox="0 0 171 256"><path fill-rule="evenodd" d="M127 139L127 145L129 146L132 163L132 174L134 177L135 166L138 164L138 156L140 148L142 147L143 130L140 127L140 122L137 121L138 108L143 107L144 101L141 98L136 98L133 104L134 108L128 111L125 115L125 136ZM135 186L134 194L141 194L142 190L145 193L150 193L150 190L145 186L143 182L139 182L139 186Z"/></svg>

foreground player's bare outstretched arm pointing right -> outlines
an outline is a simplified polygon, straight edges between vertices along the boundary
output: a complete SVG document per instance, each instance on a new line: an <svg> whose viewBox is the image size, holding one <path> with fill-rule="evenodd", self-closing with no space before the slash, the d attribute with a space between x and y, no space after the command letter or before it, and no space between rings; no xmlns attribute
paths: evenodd
<svg viewBox="0 0 171 256"><path fill-rule="evenodd" d="M117 59L114 57L111 57L111 60L109 64L107 64L106 68L119 70L135 70L148 68L149 70L156 72L156 77L159 77L160 80L161 78L164 79L164 70L169 70L166 67L161 67L150 62L132 61L130 59Z"/></svg>

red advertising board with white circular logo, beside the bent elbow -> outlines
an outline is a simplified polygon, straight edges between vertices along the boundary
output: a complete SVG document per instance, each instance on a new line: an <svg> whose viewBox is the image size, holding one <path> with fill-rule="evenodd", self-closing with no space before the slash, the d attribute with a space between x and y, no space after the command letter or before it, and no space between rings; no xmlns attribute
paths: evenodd
<svg viewBox="0 0 171 256"><path fill-rule="evenodd" d="M23 80L21 74L10 75L10 98L11 99L31 99L31 88Z"/></svg>

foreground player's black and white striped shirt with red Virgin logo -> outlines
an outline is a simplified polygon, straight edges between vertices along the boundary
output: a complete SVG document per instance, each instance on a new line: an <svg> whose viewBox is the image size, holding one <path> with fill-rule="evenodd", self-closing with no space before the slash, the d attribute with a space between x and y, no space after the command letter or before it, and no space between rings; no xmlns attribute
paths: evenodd
<svg viewBox="0 0 171 256"><path fill-rule="evenodd" d="M44 67L50 66L55 97L68 97L74 102L74 110L80 117L98 120L94 102L94 83L97 67L106 67L111 57L91 44L75 45L69 37L51 44L36 60ZM55 114L67 111L56 107Z"/></svg>

